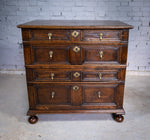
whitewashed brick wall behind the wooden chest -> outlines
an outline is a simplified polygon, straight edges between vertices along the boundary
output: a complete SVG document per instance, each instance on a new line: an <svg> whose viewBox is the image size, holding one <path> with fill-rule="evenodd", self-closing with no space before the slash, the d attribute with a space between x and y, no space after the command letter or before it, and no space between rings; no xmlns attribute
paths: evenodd
<svg viewBox="0 0 150 140"><path fill-rule="evenodd" d="M24 70L17 24L34 19L121 20L130 30L128 70L150 71L150 0L0 0L0 70Z"/></svg>

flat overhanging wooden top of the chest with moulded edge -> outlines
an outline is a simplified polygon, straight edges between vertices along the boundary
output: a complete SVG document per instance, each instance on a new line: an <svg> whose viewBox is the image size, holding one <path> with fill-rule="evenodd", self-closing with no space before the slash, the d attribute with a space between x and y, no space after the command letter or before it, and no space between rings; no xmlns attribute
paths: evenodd
<svg viewBox="0 0 150 140"><path fill-rule="evenodd" d="M33 20L18 28L47 29L132 29L133 26L113 20Z"/></svg>

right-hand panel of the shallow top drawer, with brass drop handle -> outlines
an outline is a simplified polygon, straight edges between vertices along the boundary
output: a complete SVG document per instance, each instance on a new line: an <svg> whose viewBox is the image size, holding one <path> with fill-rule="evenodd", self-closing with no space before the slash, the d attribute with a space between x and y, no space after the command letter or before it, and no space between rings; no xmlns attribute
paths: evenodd
<svg viewBox="0 0 150 140"><path fill-rule="evenodd" d="M120 41L120 30L84 30L83 41Z"/></svg>

